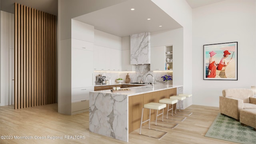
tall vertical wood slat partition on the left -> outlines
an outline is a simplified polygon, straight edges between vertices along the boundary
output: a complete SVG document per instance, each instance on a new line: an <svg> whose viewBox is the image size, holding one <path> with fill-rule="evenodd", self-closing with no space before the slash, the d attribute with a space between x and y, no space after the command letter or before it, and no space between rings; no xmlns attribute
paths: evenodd
<svg viewBox="0 0 256 144"><path fill-rule="evenodd" d="M56 16L14 6L14 109L56 103Z"/></svg>

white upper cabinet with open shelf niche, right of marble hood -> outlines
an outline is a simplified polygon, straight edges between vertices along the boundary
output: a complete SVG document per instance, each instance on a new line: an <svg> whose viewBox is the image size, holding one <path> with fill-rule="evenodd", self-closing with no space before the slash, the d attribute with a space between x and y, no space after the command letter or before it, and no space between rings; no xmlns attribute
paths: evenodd
<svg viewBox="0 0 256 144"><path fill-rule="evenodd" d="M151 52L151 71L172 70L172 46L151 47Z"/></svg>

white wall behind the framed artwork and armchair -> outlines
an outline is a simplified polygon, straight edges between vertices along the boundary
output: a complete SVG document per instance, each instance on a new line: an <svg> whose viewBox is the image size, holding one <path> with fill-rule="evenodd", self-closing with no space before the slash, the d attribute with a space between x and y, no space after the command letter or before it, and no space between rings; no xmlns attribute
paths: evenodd
<svg viewBox="0 0 256 144"><path fill-rule="evenodd" d="M225 0L193 9L193 104L219 106L226 88L256 85L256 1ZM238 42L238 80L203 80L203 45Z"/></svg>

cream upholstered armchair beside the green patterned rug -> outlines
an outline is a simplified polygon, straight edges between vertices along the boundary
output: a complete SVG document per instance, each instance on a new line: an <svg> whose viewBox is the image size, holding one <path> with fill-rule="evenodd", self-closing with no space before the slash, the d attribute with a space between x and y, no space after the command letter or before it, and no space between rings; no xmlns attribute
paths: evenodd
<svg viewBox="0 0 256 144"><path fill-rule="evenodd" d="M240 110L256 109L256 97L251 89L230 88L222 90L220 113L239 120Z"/></svg>

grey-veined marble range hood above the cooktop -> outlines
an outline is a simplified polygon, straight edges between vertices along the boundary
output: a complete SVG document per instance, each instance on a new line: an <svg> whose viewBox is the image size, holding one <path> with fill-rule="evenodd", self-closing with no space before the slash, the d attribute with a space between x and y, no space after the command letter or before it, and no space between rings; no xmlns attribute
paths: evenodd
<svg viewBox="0 0 256 144"><path fill-rule="evenodd" d="M150 32L130 36L130 64L150 64Z"/></svg>

